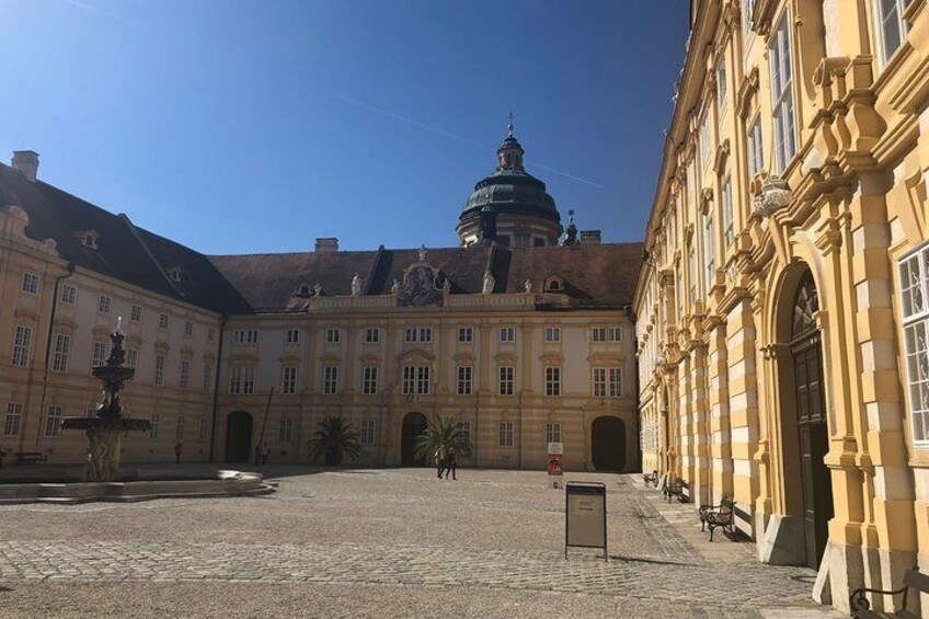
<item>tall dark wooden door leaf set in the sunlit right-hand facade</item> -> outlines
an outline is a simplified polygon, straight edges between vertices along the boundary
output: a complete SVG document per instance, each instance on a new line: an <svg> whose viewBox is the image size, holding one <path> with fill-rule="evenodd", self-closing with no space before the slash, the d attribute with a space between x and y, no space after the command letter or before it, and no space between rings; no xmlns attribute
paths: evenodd
<svg viewBox="0 0 929 619"><path fill-rule="evenodd" d="M823 391L823 346L813 320L818 299L812 276L801 280L794 303L793 358L796 389L796 433L800 448L800 475L803 490L803 525L806 538L806 564L819 566L828 523L834 515L833 483L825 458L829 451L826 402Z"/></svg>

